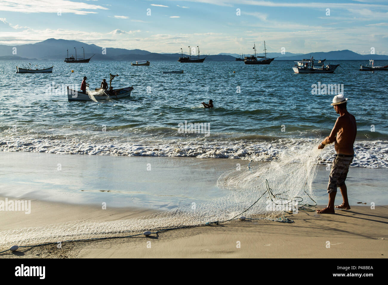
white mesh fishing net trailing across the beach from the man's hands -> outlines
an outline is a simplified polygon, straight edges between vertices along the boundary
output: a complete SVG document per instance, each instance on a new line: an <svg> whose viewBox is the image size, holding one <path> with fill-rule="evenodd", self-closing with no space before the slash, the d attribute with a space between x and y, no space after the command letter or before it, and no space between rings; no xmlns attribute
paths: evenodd
<svg viewBox="0 0 388 285"><path fill-rule="evenodd" d="M71 221L55 225L0 231L0 248L39 245L96 238L110 238L171 228L214 225L245 216L247 219L284 221L284 211L315 206L312 183L317 172L316 144L285 149L279 159L251 162L223 173L217 181L227 195L197 205L140 218L116 221ZM255 165L253 165L255 164Z"/></svg>

